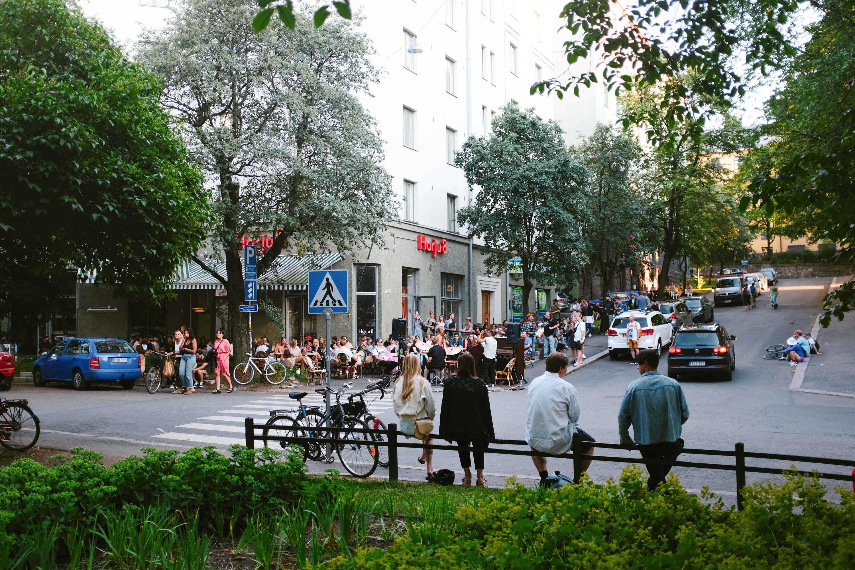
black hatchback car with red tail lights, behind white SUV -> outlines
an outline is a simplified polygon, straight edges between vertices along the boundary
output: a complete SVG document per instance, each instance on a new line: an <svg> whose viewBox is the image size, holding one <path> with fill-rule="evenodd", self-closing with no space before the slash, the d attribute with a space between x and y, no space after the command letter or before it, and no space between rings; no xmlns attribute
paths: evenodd
<svg viewBox="0 0 855 570"><path fill-rule="evenodd" d="M736 350L724 327L714 325L682 326L668 349L668 375L734 379Z"/></svg>

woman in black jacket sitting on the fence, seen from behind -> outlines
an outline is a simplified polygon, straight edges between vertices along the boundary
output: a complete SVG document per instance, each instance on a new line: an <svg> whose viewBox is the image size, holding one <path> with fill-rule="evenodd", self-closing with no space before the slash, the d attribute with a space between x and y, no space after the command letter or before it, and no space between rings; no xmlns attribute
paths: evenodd
<svg viewBox="0 0 855 570"><path fill-rule="evenodd" d="M496 437L492 429L490 395L484 381L475 377L475 359L468 352L457 357L457 376L445 380L442 392L442 409L439 414L439 437L458 445L469 447L475 457L478 478L475 485L486 487L484 479L484 449L486 440ZM463 486L472 485L469 467L469 450L460 450L460 466L466 473Z"/></svg>

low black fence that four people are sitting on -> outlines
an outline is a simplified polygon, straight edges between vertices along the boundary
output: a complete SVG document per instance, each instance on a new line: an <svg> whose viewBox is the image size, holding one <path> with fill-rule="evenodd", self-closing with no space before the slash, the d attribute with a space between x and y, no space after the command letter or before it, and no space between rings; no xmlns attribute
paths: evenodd
<svg viewBox="0 0 855 570"><path fill-rule="evenodd" d="M246 418L245 420L245 438L246 438L246 447L250 449L255 448L255 443L257 441L262 441L267 443L268 440L280 441L281 436L266 436L266 435L257 435L256 430L263 430L265 427L264 424L257 425L255 423L254 418ZM278 428L281 429L281 428ZM317 429L313 427L304 427L304 426L289 426L289 429L292 429L295 432L298 431L307 431L310 429ZM370 434L373 441L371 444L377 446L387 446L389 448L389 480L397 481L398 480L398 449L399 448L412 448L412 449L428 449L428 450L448 450L448 451L457 451L457 450L473 450L472 447L460 446L460 445L426 445L418 442L417 440L413 443L409 443L406 440L399 441L398 436L406 436L403 432L398 432L397 424L389 424L386 427L386 430L372 430L372 429L364 429L364 428L351 428L351 427L327 427L323 426L321 428L323 432L329 432L332 434L338 432L349 432L349 433L368 433ZM340 444L341 440L336 438L297 438L289 436L287 439L288 444L300 445L303 443L313 443L313 444ZM528 457L531 456L539 456L539 457L551 457L557 459L571 459L573 460L573 479L579 480L582 473L582 463L584 461L610 461L614 463L644 463L645 465L648 463L657 463L659 461L656 460L645 460L643 458L638 459L630 459L627 457L617 457L615 455L587 455L582 452L582 440L577 433L573 438L572 449L570 453L564 453L561 455L553 455L550 453L540 453L540 451L532 450L529 445L522 440L518 439L490 439L488 442L490 445L522 445L525 446L524 450L506 450L502 448L495 447L486 447L479 448L479 451L483 451L484 453L492 453L495 455L525 455ZM604 450L640 450L639 446L628 447L626 445L620 444L604 444L600 442L590 442L595 448L604 449ZM852 475L844 475L840 473L817 473L814 471L805 471L801 469L792 470L792 469L781 469L775 467L753 467L746 465L746 459L769 459L775 461L790 461L791 464L794 462L801 463L817 463L821 465L833 465L838 467L855 467L855 460L843 460L843 459L829 459L827 457L811 457L808 455L783 455L779 453L758 453L753 451L746 451L745 444L739 443L734 446L733 451L728 450L701 450L695 448L683 448L681 450L681 455L717 455L721 457L733 457L733 464L729 463L709 463L703 461L674 461L672 465L674 467L695 467L699 469L717 469L719 471L732 471L736 473L736 508L742 510L742 490L746 486L746 473L768 473L772 475L781 475L782 473L799 473L799 475L805 476L813 476L817 475L820 479L831 479L836 481L850 481L852 482L852 488L855 490L855 470L853 470Z"/></svg>

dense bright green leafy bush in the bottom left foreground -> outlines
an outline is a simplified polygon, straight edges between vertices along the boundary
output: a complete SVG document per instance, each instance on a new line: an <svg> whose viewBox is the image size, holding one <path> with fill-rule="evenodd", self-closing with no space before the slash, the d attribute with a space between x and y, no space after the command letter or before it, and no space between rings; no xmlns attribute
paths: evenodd
<svg viewBox="0 0 855 570"><path fill-rule="evenodd" d="M0 469L0 560L14 548L15 535L55 522L91 527L99 511L127 504L192 514L203 525L223 514L235 520L278 515L298 499L306 479L299 455L268 448L233 445L231 456L213 447L146 448L112 467L95 452L71 451L71 459L57 456L55 467L20 459Z"/></svg>

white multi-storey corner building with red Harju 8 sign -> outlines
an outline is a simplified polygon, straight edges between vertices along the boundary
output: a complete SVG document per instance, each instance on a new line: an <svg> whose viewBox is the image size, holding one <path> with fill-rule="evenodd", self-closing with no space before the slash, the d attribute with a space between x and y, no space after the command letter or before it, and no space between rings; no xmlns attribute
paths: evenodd
<svg viewBox="0 0 855 570"><path fill-rule="evenodd" d="M162 25L171 16L168 4L169 0L80 0L84 13L111 29L129 53L144 26ZM475 323L515 320L528 310L542 312L545 306L535 303L539 298L551 301L549 288L533 291L530 306L522 307L522 288L512 276L488 273L478 242L470 246L456 213L474 196L452 162L466 138L489 133L492 117L506 103L534 108L543 120L557 120L568 143L593 132L598 122L614 124L615 97L602 83L582 87L581 97L569 93L563 100L529 94L538 79L569 76L563 53L569 32L557 32L563 0L351 0L351 4L364 16L361 29L372 38L374 65L382 70L374 97L363 97L363 104L378 120L386 141L384 167L399 194L403 221L390 227L389 249L330 258L330 268L351 270L351 303L357 307L347 316L334 317L334 326L349 331L351 338L380 337L391 332L392 318L403 316L411 323L416 310L423 316L428 310L437 316L453 310L458 322L471 316ZM414 42L421 45L421 53L408 52ZM575 63L574 71L598 69L597 63L596 56L590 56ZM446 252L419 249L421 236L428 242L445 240ZM207 329L213 332L220 326L213 309L224 291L216 291L219 285L205 279L188 275L176 288L193 290L182 291L192 293L186 301L180 295L188 314L199 318L200 307L211 312L210 322L193 326L209 336ZM315 332L318 324L305 314L305 293L289 290L290 285L280 287L286 291L268 291L289 314L288 336ZM200 291L205 289L210 290L205 293L209 297L202 299ZM165 318L169 322L164 326L172 326L172 317ZM136 331L131 320L128 330Z"/></svg>

